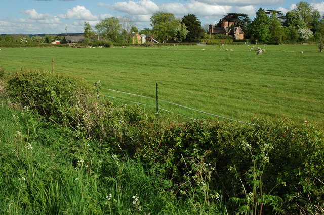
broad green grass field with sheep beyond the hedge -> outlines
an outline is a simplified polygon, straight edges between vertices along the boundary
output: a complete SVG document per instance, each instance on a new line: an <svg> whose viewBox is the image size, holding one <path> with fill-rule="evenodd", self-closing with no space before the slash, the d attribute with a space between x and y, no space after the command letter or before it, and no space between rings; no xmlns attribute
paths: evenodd
<svg viewBox="0 0 324 215"><path fill-rule="evenodd" d="M259 56L249 50L252 46L2 48L0 67L51 70L55 58L56 72L101 80L101 93L113 97L154 106L153 99L106 89L155 97L157 82L159 99L227 118L251 122L256 114L285 115L298 123L322 124L324 53L317 45L260 45L265 52ZM192 118L210 117L163 102L159 107Z"/></svg>

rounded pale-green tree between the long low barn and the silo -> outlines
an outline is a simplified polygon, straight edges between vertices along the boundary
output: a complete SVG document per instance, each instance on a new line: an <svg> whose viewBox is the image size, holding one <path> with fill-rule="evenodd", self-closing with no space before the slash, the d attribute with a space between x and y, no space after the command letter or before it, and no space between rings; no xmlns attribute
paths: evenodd
<svg viewBox="0 0 324 215"><path fill-rule="evenodd" d="M119 19L116 17L109 17L102 19L95 28L105 38L111 40L111 42L120 42L121 25Z"/></svg>

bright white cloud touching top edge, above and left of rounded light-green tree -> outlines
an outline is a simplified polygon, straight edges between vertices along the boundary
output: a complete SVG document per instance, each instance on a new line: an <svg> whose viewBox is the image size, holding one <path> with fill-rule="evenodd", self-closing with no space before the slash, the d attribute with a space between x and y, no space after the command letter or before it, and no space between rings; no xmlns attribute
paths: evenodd
<svg viewBox="0 0 324 215"><path fill-rule="evenodd" d="M133 15L151 14L159 10L158 6L151 0L115 2L110 8Z"/></svg>

